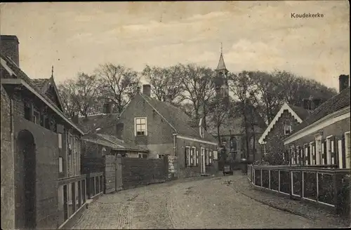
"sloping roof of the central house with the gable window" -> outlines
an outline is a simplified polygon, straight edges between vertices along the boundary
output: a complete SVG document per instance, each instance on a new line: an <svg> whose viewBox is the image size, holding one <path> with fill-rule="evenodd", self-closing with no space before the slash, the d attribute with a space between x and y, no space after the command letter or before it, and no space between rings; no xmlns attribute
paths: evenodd
<svg viewBox="0 0 351 230"><path fill-rule="evenodd" d="M217 140L206 131L204 132L204 138L201 138L199 130L190 126L190 124L194 123L192 123L190 117L187 116L187 114L185 114L185 112L183 112L181 109L174 107L167 102L161 102L154 98L148 97L147 95L142 95L142 97L147 102L149 102L149 104L151 104L151 106L154 107L154 109L156 109L161 114L161 116L164 116L166 122L173 126L179 135L196 137L198 139L203 139L209 142L217 142Z"/></svg>

